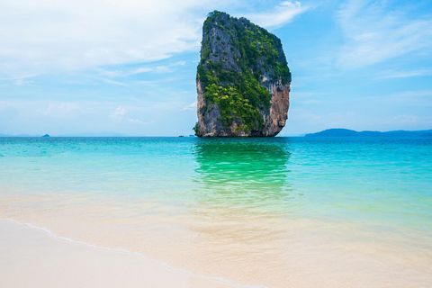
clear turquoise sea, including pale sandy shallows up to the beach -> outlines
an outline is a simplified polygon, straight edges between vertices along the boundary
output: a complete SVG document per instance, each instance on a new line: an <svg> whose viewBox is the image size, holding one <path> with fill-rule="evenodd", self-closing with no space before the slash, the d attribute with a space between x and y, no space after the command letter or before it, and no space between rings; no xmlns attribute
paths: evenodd
<svg viewBox="0 0 432 288"><path fill-rule="evenodd" d="M0 138L0 218L234 284L427 287L432 139Z"/></svg>

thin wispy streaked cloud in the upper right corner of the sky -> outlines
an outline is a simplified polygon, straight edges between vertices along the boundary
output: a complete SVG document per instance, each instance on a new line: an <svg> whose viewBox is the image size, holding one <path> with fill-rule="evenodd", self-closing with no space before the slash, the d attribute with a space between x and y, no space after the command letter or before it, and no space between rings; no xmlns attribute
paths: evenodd
<svg viewBox="0 0 432 288"><path fill-rule="evenodd" d="M394 9L385 0L351 0L343 5L338 11L338 23L348 43L339 55L338 64L365 67L432 48L430 18L411 19L404 8Z"/></svg>

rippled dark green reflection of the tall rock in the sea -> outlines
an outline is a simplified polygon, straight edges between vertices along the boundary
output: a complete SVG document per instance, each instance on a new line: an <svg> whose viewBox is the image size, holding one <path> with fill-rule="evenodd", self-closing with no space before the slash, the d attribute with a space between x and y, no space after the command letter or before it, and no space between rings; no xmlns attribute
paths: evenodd
<svg viewBox="0 0 432 288"><path fill-rule="evenodd" d="M287 139L202 139L194 148L202 196L266 206L288 197Z"/></svg>

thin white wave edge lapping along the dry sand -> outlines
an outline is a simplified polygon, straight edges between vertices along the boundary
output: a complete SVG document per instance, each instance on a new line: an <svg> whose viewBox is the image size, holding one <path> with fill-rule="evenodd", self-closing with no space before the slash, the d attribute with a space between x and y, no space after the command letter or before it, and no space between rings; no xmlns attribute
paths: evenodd
<svg viewBox="0 0 432 288"><path fill-rule="evenodd" d="M38 226L35 226L35 225L31 224L31 223L23 223L23 222L14 220L12 218L0 218L0 220L9 220L9 221L12 221L12 222L14 222L16 224L30 227L31 229L41 230L41 231L47 233L49 235L49 237L56 238L56 239L61 240L61 241L65 241L65 242L69 242L69 243L75 243L75 244L83 245L83 246L86 246L86 247L92 247L92 248L95 248L95 249L100 249L100 250L105 250L105 251L122 252L122 253L130 254L130 255L134 255L134 256L140 257L140 258L142 258L142 259L144 259L146 261L149 261L149 262L152 262L152 263L156 263L156 264L161 265L161 266L166 266L167 268L169 268L171 270L182 272L182 273L185 273L187 275L194 276L194 277L200 277L202 279L219 281L221 283L230 284L230 285L233 285L233 286L236 286L236 287L243 287L243 288L270 288L269 286L266 286L266 285L237 284L237 283L234 283L234 282L230 281L229 279L227 279L227 278L225 278L223 276L207 276L207 275L195 274L195 273L193 273L190 270L187 270L187 269L184 269L184 268L176 268L174 266L169 265L166 262L150 259L150 258L146 257L145 255L143 255L142 253L139 253L139 252L132 252L129 249L124 249L124 248L103 247L103 246L97 246L97 245L94 245L94 244L91 244L91 243L87 243L87 242L83 242L83 241L76 241L76 240L74 240L72 238L67 238L67 237L64 237L64 236L59 236L59 235L53 233L51 230L49 230L49 229L47 229L45 227L38 227Z"/></svg>

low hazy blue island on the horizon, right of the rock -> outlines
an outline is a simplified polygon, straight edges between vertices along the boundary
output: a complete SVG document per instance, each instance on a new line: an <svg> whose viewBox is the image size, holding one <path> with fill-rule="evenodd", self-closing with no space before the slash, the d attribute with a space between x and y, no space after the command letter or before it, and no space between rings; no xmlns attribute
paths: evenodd
<svg viewBox="0 0 432 288"><path fill-rule="evenodd" d="M322 130L317 133L306 134L304 137L398 137L398 138L412 138L412 137L432 137L432 130L393 130L393 131L356 131L348 129L328 129Z"/></svg>

